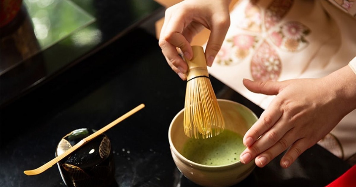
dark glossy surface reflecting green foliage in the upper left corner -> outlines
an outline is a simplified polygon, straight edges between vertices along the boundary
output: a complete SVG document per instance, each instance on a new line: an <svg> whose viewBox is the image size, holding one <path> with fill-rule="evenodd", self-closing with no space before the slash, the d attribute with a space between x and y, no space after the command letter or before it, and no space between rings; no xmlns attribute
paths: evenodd
<svg viewBox="0 0 356 187"><path fill-rule="evenodd" d="M153 0L23 0L1 28L0 107L162 10Z"/></svg>

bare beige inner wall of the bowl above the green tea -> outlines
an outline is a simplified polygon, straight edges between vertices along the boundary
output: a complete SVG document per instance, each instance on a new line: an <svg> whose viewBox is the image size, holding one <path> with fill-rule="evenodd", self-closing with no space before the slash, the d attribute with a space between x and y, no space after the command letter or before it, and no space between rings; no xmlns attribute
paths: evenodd
<svg viewBox="0 0 356 187"><path fill-rule="evenodd" d="M245 135L247 130L257 120L256 114L240 103L225 99L218 99L218 103L225 120L225 129L234 131L241 135L241 137ZM169 126L168 138L173 152L175 152L177 156L182 157L182 159L185 159L180 151L182 151L184 143L189 137L184 134L183 115L184 109L180 110L173 118ZM188 162L190 161L188 160Z"/></svg>

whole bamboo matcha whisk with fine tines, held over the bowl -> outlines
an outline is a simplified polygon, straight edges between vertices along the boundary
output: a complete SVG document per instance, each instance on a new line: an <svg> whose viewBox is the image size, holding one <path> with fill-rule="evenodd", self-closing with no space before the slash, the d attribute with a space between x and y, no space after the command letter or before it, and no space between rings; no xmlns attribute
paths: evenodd
<svg viewBox="0 0 356 187"><path fill-rule="evenodd" d="M188 64L184 103L184 133L190 138L219 135L225 127L224 118L211 85L204 49L192 46L193 58Z"/></svg>

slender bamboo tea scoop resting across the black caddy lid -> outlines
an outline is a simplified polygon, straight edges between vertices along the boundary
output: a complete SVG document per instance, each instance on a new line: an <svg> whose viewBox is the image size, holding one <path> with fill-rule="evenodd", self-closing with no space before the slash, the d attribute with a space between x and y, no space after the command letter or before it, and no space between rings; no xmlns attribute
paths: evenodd
<svg viewBox="0 0 356 187"><path fill-rule="evenodd" d="M131 116L132 114L136 113L138 110L141 110L143 107L145 107L144 104L138 105L136 108L130 110L126 114L122 115L120 118L117 118L116 120L112 121L110 124L104 126L103 128L101 128L100 130L96 131L95 133L85 137L83 140L79 141L73 147L71 147L67 151L63 152L61 155L58 155L57 157L55 157L51 161L45 163L44 165L42 165L42 166L40 166L40 167L38 167L36 169L23 171L23 173L25 173L26 175L37 175L37 174L40 174L40 173L46 171L48 168L52 167L54 164L56 164L57 162L62 160L64 157L68 156L73 151L77 150L80 146L82 146L85 143L87 143L88 141L94 139L96 136L104 133L108 129L112 128L114 125L120 123L122 120L124 120L124 119L128 118L129 116Z"/></svg>

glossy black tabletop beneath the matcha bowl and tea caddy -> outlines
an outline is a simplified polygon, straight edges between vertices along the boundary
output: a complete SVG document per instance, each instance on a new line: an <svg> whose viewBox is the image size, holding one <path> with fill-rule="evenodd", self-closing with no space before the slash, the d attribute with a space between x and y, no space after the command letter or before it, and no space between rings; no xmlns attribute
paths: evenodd
<svg viewBox="0 0 356 187"><path fill-rule="evenodd" d="M262 113L214 77L211 82L218 98ZM117 186L197 186L177 170L168 143L169 124L184 107L185 86L168 66L156 38L131 31L1 110L0 186L64 186L57 167L35 176L23 171L51 160L68 132L100 129L141 103L146 107L105 133L114 151ZM279 166L279 159L256 167L235 186L322 187L351 167L317 145L288 169Z"/></svg>

